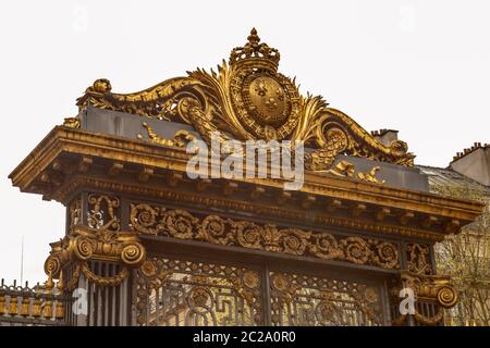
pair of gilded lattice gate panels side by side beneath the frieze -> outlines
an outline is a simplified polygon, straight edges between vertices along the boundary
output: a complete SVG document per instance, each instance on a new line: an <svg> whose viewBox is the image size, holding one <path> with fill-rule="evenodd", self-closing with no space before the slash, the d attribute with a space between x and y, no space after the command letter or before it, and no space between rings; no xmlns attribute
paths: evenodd
<svg viewBox="0 0 490 348"><path fill-rule="evenodd" d="M385 323L381 287L358 281L152 258L135 271L135 284L138 325L268 324L264 311L272 325Z"/></svg>

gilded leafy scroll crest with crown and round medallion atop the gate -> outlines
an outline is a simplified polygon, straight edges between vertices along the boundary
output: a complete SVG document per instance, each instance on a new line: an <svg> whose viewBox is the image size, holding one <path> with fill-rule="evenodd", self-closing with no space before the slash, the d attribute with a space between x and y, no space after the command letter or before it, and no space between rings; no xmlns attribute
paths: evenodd
<svg viewBox="0 0 490 348"><path fill-rule="evenodd" d="M320 96L301 96L295 80L278 72L279 60L279 51L260 42L254 28L218 72L198 69L187 77L126 95L113 94L110 82L101 78L77 105L189 124L208 144L213 132L219 132L220 141L305 141L311 149L305 161L311 171L330 169L341 153L413 166L415 156L405 142L385 146L346 114L328 108ZM160 138L154 134L152 140Z"/></svg>

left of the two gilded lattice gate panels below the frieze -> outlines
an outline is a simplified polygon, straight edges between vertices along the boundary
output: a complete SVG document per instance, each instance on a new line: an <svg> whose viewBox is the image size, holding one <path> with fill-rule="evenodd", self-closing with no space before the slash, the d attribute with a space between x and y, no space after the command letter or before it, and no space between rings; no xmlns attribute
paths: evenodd
<svg viewBox="0 0 490 348"><path fill-rule="evenodd" d="M138 325L262 324L262 282L256 270L152 258L136 271Z"/></svg>

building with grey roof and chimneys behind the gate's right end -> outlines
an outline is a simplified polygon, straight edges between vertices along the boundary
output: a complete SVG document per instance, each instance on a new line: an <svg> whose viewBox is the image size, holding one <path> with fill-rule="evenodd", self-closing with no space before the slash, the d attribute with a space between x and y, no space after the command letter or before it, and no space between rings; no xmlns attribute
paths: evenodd
<svg viewBox="0 0 490 348"><path fill-rule="evenodd" d="M450 274L460 302L449 310L449 325L490 325L490 146L475 144L445 169L418 165L438 195L478 200L486 211L458 235L436 246L438 270Z"/></svg>

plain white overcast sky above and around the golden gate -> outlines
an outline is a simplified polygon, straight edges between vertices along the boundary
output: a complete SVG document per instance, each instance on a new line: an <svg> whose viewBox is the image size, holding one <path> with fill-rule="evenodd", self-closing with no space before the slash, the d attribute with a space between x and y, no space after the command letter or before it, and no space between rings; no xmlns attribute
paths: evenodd
<svg viewBox="0 0 490 348"><path fill-rule="evenodd" d="M0 277L44 281L64 208L9 173L94 79L131 92L215 67L252 26L280 71L368 130L394 128L420 164L490 142L489 1L5 1L0 8Z"/></svg>

